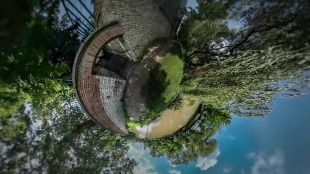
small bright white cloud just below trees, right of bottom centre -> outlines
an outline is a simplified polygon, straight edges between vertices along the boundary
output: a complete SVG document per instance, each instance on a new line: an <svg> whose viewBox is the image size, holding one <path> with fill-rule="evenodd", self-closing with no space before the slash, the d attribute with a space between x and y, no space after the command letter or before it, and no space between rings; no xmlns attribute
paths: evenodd
<svg viewBox="0 0 310 174"><path fill-rule="evenodd" d="M196 167L199 167L200 170L206 170L210 167L213 167L217 163L217 157L220 155L220 150L216 149L211 155L206 158L199 157L197 159Z"/></svg>

